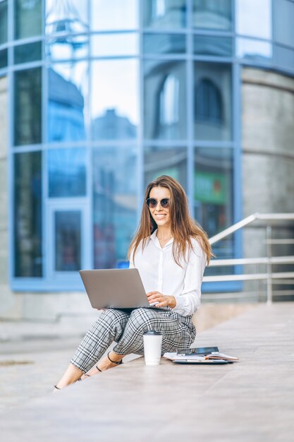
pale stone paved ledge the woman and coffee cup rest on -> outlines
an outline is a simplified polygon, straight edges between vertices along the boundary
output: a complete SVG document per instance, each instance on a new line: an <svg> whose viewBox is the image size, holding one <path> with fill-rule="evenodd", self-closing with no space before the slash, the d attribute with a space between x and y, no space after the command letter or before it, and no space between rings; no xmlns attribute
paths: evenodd
<svg viewBox="0 0 294 442"><path fill-rule="evenodd" d="M293 442L293 330L294 304L257 306L195 342L240 362L145 366L136 359L3 413L1 439Z"/></svg>

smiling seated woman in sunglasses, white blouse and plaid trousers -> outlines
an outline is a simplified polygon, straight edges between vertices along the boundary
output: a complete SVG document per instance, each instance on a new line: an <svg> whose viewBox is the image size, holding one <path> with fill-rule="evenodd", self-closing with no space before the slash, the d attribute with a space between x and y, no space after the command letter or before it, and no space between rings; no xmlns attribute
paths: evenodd
<svg viewBox="0 0 294 442"><path fill-rule="evenodd" d="M185 191L163 175L148 184L140 225L130 244L130 268L137 268L149 304L169 309L108 309L88 331L55 388L121 364L126 354L143 354L143 334L163 333L162 354L190 347L196 330L192 314L200 306L201 283L212 249L192 220ZM102 357L111 342L116 345Z"/></svg>

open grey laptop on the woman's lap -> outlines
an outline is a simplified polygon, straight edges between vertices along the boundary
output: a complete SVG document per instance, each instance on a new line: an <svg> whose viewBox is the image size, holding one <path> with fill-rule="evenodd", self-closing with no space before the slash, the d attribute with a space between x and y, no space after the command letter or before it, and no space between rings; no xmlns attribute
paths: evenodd
<svg viewBox="0 0 294 442"><path fill-rule="evenodd" d="M80 270L93 309L147 309L169 310L149 304L137 268Z"/></svg>

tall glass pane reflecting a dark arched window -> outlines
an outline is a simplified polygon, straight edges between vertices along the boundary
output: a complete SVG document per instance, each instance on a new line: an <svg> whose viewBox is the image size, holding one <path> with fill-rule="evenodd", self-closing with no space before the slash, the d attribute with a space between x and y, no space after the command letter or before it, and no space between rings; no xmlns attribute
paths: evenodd
<svg viewBox="0 0 294 442"><path fill-rule="evenodd" d="M194 97L195 138L231 140L231 65L195 63Z"/></svg>

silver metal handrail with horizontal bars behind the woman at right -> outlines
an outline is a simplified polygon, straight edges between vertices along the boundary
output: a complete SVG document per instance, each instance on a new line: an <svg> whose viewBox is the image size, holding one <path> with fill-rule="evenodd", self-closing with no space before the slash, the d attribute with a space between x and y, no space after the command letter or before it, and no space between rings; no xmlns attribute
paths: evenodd
<svg viewBox="0 0 294 442"><path fill-rule="evenodd" d="M263 221L294 221L294 213L253 213L252 215L236 222L231 227L224 229L223 232L214 235L209 239L210 244L215 244L228 235L235 233L238 229L249 225L255 220ZM250 265L250 264L265 264L267 265L266 273L252 273L245 275L214 275L204 276L203 282L221 282L221 281L245 281L245 280L267 280L267 303L272 301L272 285L273 280L290 279L294 277L294 272L279 272L272 273L271 265L275 264L292 264L294 263L294 256L271 256L271 244L293 244L293 239L287 240L271 239L271 226L267 225L267 257L264 258L233 258L233 259L215 259L210 265L212 267L228 266L228 265Z"/></svg>

